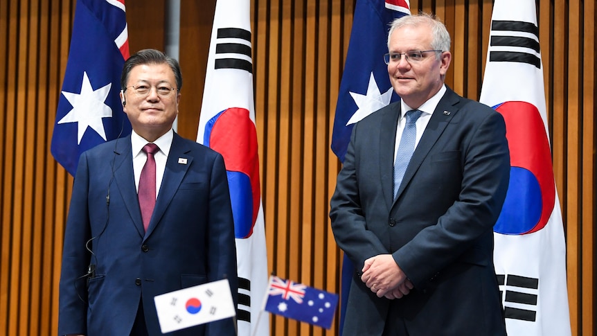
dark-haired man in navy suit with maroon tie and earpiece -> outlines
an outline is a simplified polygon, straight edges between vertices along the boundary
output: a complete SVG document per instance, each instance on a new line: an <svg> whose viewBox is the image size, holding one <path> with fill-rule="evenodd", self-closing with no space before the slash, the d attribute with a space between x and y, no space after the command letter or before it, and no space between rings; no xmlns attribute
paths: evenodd
<svg viewBox="0 0 597 336"><path fill-rule="evenodd" d="M64 233L59 335L161 335L156 295L222 278L236 304L224 159L172 130L181 86L178 62L160 51L125 62L121 99L133 132L80 157ZM235 323L169 335L235 335Z"/></svg>

